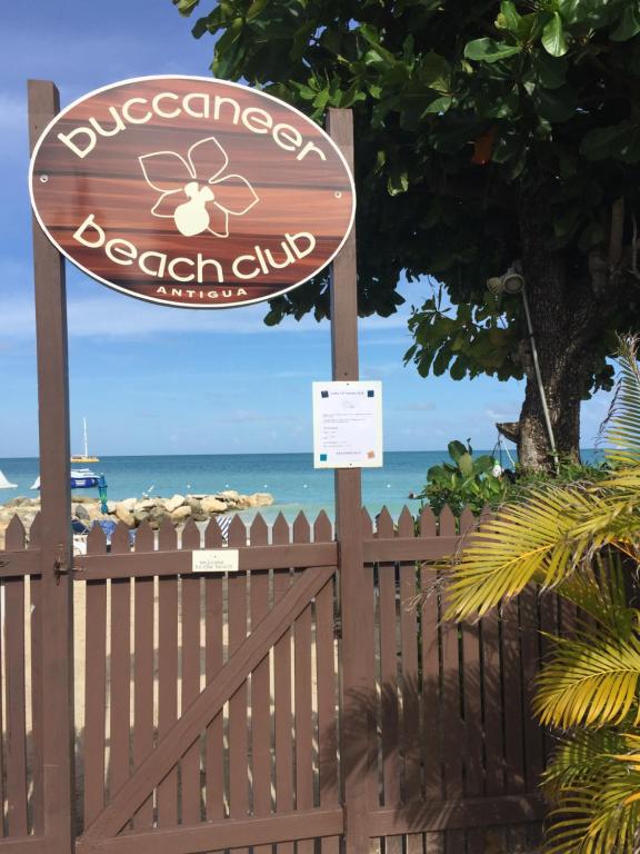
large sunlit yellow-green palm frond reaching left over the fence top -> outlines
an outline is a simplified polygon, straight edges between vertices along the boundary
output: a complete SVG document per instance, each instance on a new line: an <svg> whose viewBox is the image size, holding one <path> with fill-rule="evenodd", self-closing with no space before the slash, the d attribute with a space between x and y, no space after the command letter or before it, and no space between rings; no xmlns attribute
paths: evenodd
<svg viewBox="0 0 640 854"><path fill-rule="evenodd" d="M447 618L481 616L529 583L562 582L590 547L572 532L594 512L597 496L576 487L539 487L472 532L450 568Z"/></svg>

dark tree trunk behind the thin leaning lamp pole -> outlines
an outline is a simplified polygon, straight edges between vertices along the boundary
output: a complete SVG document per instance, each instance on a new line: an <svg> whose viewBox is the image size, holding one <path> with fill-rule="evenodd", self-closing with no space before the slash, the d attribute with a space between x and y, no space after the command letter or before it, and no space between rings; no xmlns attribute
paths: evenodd
<svg viewBox="0 0 640 854"><path fill-rule="evenodd" d="M593 334L590 318L598 307L590 282L568 276L564 254L549 250L552 236L548 219L544 205L522 200L522 274L558 455L563 460L578 461L580 401L590 381L589 338ZM550 469L553 465L551 443L531 342L528 340L522 349L527 388L520 413L518 456L526 469Z"/></svg>

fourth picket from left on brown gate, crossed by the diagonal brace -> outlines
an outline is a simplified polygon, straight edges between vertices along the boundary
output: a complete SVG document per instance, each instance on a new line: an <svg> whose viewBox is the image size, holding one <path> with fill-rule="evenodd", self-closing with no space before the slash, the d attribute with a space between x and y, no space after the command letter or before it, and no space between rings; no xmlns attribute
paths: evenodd
<svg viewBox="0 0 640 854"><path fill-rule="evenodd" d="M171 522L160 526L158 547L177 548ZM158 579L158 737L162 738L178 719L178 578ZM158 785L158 826L178 824L178 769L172 768Z"/></svg>

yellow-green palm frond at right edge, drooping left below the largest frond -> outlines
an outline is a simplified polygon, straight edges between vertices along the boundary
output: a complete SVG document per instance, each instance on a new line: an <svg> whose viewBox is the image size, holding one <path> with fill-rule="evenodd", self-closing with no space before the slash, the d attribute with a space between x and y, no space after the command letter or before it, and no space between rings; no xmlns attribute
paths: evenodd
<svg viewBox="0 0 640 854"><path fill-rule="evenodd" d="M621 723L633 712L640 679L640 638L591 627L571 638L554 638L554 649L538 676L534 711L542 724L563 729Z"/></svg>

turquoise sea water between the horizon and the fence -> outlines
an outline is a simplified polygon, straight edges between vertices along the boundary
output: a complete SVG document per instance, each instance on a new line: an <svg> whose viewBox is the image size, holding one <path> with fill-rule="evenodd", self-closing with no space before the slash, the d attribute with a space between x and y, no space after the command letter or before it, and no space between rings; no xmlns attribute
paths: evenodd
<svg viewBox="0 0 640 854"><path fill-rule="evenodd" d="M499 451L493 453L500 459ZM582 458L590 461L596 451L583 450ZM446 450L387 451L381 468L362 470L362 498L374 515L382 506L397 517L404 505L410 509L418 502L410 493L420 493L427 470L448 458ZM501 463L510 467L502 451ZM333 516L333 473L313 468L311 454L224 454L202 456L150 456L101 457L89 466L96 474L103 474L110 499L142 497L146 493L168 497L176 493L214 494L222 489L239 493L271 493L273 505L261 509L268 523L278 513L292 520L300 510L312 520L320 510ZM17 496L34 497L30 489L39 474L36 457L0 458L0 470L16 489L0 490L0 504ZM97 489L79 490L78 494L98 495ZM242 514L251 518L254 512Z"/></svg>

